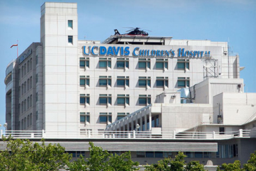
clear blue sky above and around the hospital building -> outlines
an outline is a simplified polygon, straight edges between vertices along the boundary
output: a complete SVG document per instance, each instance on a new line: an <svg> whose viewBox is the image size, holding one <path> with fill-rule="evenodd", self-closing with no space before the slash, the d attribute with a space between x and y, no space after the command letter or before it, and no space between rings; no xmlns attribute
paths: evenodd
<svg viewBox="0 0 256 171"><path fill-rule="evenodd" d="M245 92L256 92L256 1L254 0L67 0L77 3L79 40L104 41L117 28L151 30L151 36L171 36L227 42L240 55ZM32 42L40 41L42 0L0 0L0 124L5 122L5 70ZM0 127L3 129L3 127Z"/></svg>

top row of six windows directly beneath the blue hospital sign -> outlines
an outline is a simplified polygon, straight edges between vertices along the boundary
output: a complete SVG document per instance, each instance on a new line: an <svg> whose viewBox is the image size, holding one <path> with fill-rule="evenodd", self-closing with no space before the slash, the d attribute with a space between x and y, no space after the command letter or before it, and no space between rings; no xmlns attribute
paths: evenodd
<svg viewBox="0 0 256 171"><path fill-rule="evenodd" d="M70 41L71 43L71 38ZM81 68L90 68L89 57L80 58ZM117 69L129 68L129 58L117 58ZM97 68L112 68L112 58L99 58ZM168 59L157 59L155 62L157 70L168 70ZM139 58L138 69L151 69L150 58ZM189 70L189 60L177 60L177 70Z"/></svg>

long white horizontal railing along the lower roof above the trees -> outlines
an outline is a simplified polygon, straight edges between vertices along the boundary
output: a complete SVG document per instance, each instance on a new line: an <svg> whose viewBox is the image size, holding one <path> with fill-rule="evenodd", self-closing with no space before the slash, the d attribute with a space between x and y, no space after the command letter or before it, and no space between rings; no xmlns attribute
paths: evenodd
<svg viewBox="0 0 256 171"><path fill-rule="evenodd" d="M231 139L235 137L250 137L250 130L237 130L232 132L177 132L162 131L153 134L151 131L100 131L97 133L90 130L80 132L56 132L46 130L0 130L0 136L20 139Z"/></svg>

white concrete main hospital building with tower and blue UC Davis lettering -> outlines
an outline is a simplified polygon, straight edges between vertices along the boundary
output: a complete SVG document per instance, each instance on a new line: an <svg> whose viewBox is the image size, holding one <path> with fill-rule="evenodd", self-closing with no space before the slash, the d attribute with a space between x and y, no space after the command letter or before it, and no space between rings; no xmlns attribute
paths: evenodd
<svg viewBox="0 0 256 171"><path fill-rule="evenodd" d="M202 82L207 79L205 68L210 67L215 72L207 77L229 77L241 83L243 91L239 56L227 54L227 42L125 35L112 35L105 42L79 41L77 17L76 3L41 6L41 42L32 44L31 58L23 61L32 62L30 75L15 79L16 85L6 84L6 94L12 89L9 96L13 97L11 105L6 101L6 120L12 125L8 129L98 132L118 118L156 103L163 92ZM217 67L210 65L212 60ZM14 79L22 67L20 63L9 72L8 66L6 79L11 72ZM30 77L32 88L27 95L33 103L24 111L17 104L22 106L28 96L15 98L15 93L21 92L18 87L22 89ZM207 113L212 115L210 110ZM22 126L27 115L32 123Z"/></svg>

